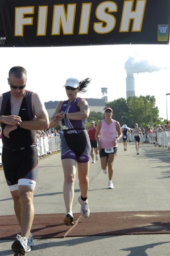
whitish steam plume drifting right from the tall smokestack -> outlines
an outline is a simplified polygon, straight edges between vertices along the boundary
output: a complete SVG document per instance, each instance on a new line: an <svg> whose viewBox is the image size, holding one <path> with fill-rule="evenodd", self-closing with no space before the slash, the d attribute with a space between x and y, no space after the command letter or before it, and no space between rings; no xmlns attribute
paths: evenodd
<svg viewBox="0 0 170 256"><path fill-rule="evenodd" d="M160 69L167 69L165 67L158 67L154 64L148 63L147 60L135 60L134 57L128 57L125 63L125 69L127 76L133 75L134 73L152 73L154 71L159 71Z"/></svg>

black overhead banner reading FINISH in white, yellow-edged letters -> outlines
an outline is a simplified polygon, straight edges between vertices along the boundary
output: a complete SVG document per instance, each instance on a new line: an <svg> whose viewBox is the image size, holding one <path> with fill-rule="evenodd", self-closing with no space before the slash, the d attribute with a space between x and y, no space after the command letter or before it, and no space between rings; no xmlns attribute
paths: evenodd
<svg viewBox="0 0 170 256"><path fill-rule="evenodd" d="M170 0L0 0L0 47L168 44Z"/></svg>

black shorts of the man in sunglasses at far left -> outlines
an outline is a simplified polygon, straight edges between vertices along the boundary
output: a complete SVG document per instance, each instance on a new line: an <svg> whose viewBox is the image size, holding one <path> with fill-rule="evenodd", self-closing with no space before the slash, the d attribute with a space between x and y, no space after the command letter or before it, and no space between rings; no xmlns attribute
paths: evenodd
<svg viewBox="0 0 170 256"><path fill-rule="evenodd" d="M2 148L2 166L7 184L18 184L19 179L36 181L38 175L38 150L36 147L26 147L23 150L12 151Z"/></svg>

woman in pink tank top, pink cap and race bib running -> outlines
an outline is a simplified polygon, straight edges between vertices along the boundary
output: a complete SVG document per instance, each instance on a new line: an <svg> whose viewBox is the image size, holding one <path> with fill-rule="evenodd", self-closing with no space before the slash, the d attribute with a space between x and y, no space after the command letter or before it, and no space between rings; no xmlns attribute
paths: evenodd
<svg viewBox="0 0 170 256"><path fill-rule="evenodd" d="M98 122L96 129L96 141L98 143L101 167L104 174L107 174L108 171L108 188L114 188L112 183L113 161L117 155L118 140L122 137L121 126L118 121L111 118L112 116L113 110L106 108L105 119Z"/></svg>

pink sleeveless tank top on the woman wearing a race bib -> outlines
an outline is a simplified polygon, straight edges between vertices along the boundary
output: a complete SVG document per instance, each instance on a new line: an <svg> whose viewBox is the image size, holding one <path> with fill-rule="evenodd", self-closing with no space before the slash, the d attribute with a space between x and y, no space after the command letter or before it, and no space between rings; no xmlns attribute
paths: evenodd
<svg viewBox="0 0 170 256"><path fill-rule="evenodd" d="M105 119L101 120L102 126L100 130L100 142L102 148L113 147L113 142L117 137L116 122L113 120L110 125L107 125Z"/></svg>

